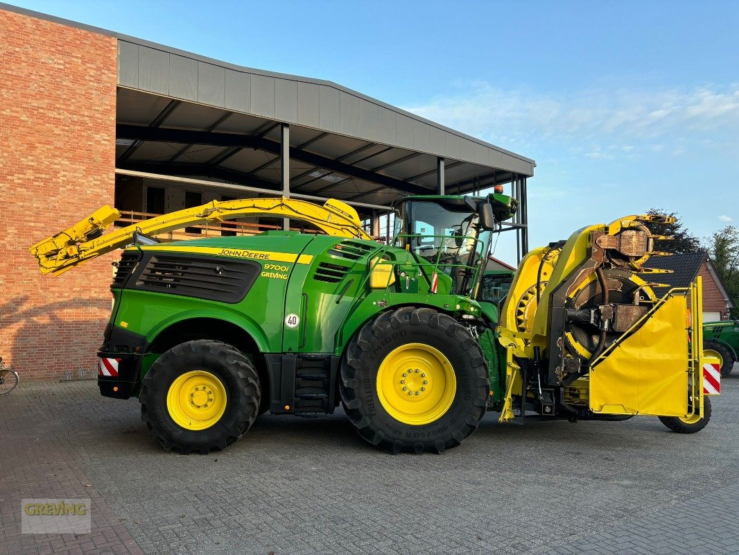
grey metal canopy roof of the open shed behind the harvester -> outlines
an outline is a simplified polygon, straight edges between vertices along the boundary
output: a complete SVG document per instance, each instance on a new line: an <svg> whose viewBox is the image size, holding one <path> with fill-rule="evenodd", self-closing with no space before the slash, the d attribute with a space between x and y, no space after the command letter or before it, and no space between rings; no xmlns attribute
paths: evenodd
<svg viewBox="0 0 739 555"><path fill-rule="evenodd" d="M240 67L0 7L118 39L118 169L333 197L364 215L402 195L510 183L521 201L513 225L520 255L527 249L526 178L536 166L530 158L331 81Z"/></svg>

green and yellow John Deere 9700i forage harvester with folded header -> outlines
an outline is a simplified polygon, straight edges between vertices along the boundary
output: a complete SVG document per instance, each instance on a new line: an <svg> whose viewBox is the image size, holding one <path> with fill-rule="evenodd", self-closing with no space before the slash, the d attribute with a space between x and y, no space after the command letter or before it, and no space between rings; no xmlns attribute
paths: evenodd
<svg viewBox="0 0 739 555"><path fill-rule="evenodd" d="M98 383L108 397L138 397L168 449L208 453L262 412L331 413L339 402L361 437L393 453L454 447L486 411L703 428L704 370L716 361L702 349L701 283L656 297L638 277L656 254L645 226L655 217L535 249L502 303L476 300L491 237L516 209L501 194L405 198L382 245L338 201L214 201L106 235L118 213L104 207L31 252L58 274L129 245ZM254 213L325 235L149 236Z"/></svg>

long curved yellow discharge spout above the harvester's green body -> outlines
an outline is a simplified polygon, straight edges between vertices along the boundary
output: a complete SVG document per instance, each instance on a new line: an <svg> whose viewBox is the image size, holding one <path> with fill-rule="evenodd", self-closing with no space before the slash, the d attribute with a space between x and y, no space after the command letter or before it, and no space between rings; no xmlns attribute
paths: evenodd
<svg viewBox="0 0 739 555"><path fill-rule="evenodd" d="M227 221L248 215L271 215L311 223L334 237L372 240L362 229L356 210L347 203L329 199L323 206L293 198L247 198L212 201L133 223L102 235L107 226L120 218L120 212L103 206L84 220L46 238L30 252L38 260L42 274L58 275L87 260L97 258L132 242L135 232L146 235L182 229L208 221Z"/></svg>

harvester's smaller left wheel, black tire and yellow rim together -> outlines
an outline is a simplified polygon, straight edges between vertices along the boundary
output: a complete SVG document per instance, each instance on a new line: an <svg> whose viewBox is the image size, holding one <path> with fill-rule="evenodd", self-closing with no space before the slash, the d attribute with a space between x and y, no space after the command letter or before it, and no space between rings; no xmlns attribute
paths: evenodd
<svg viewBox="0 0 739 555"><path fill-rule="evenodd" d="M259 377L234 347L188 341L151 366L139 400L141 419L163 448L208 454L251 427L259 411Z"/></svg>

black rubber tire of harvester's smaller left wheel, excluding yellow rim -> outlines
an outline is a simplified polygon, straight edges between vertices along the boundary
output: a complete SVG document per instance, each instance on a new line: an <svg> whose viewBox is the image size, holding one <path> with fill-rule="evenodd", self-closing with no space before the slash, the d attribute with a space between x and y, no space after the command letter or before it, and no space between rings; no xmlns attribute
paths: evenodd
<svg viewBox="0 0 739 555"><path fill-rule="evenodd" d="M205 429L188 429L177 424L167 405L174 380L189 371L213 374L225 389L225 410L216 423ZM174 346L151 366L139 397L141 419L149 435L166 450L183 454L208 454L223 449L248 431L259 411L259 377L244 354L226 343L211 340L188 341Z"/></svg>

